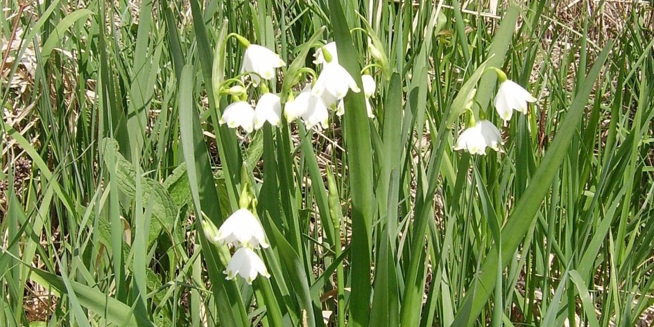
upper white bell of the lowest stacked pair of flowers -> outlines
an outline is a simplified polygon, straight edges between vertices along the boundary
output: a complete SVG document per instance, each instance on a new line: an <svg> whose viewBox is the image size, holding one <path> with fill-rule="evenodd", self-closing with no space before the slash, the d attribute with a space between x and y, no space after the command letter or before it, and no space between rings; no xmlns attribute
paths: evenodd
<svg viewBox="0 0 654 327"><path fill-rule="evenodd" d="M244 247L268 247L264 229L248 209L239 209L230 215L218 229L214 242L219 244L238 242Z"/></svg>

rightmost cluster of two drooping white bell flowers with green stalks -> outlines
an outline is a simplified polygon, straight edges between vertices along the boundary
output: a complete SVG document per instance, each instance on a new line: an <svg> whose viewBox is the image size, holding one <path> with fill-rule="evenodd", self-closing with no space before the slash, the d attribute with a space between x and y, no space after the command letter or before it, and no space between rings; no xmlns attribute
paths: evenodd
<svg viewBox="0 0 654 327"><path fill-rule="evenodd" d="M494 69L494 71L499 77L500 85L493 104L497 114L506 125L506 122L513 116L514 109L522 114L527 114L527 103L533 103L536 99L516 82L507 80L504 72L499 69ZM472 97L474 97L474 93L468 99L466 108L470 109L471 115L468 128L458 136L454 150L466 150L470 154L486 154L486 148L499 151L499 145L503 143L501 134L495 125L485 119L483 109L479 109L479 121L474 121L471 109Z"/></svg>

